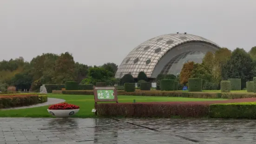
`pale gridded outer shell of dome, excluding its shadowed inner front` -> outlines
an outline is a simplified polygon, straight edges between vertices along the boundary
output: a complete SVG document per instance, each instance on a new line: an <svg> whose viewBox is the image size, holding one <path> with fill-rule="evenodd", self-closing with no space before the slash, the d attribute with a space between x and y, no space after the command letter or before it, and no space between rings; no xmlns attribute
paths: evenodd
<svg viewBox="0 0 256 144"><path fill-rule="evenodd" d="M167 42L168 41L170 42L171 40L173 42L171 44L167 44ZM151 74L155 70L159 61L162 58L164 58L164 56L168 52L186 43L196 43L196 42L209 44L217 49L220 48L220 46L218 46L216 43L208 39L205 39L203 37L192 35L192 34L174 33L174 34L160 35L158 37L149 39L141 43L139 46L135 47L131 52L129 52L129 54L125 57L125 59L119 65L115 78L122 78L124 74L127 74L129 72L134 78L137 78L138 72L141 72L141 71L145 72L145 70L147 70L145 72L147 77L151 78ZM144 50L144 48L148 46L150 46L150 48L147 48L147 50ZM159 48L161 48L161 51L155 53L155 50ZM136 60L137 61L136 63L134 61L135 59L138 60L138 61ZM151 60L151 63L145 64L145 62L148 59Z"/></svg>

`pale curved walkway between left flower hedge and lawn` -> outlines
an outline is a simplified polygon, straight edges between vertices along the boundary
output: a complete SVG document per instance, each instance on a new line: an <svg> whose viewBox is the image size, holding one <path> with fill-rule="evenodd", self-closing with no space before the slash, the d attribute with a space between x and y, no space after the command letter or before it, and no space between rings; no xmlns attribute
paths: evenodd
<svg viewBox="0 0 256 144"><path fill-rule="evenodd" d="M1 110L26 109L26 108L32 108L32 107L45 106L45 105L54 105L54 104L58 104L58 103L63 103L65 101L66 100L60 99L60 98L48 98L47 102L45 102L45 103L40 103L40 104L36 104L36 105L29 105L29 106L21 106L21 107L10 107L10 108L1 109Z"/></svg>

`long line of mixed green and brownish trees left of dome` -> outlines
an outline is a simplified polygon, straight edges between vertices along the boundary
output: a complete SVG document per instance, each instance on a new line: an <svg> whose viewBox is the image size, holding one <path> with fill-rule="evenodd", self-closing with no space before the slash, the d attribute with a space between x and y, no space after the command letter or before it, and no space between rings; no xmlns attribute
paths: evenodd
<svg viewBox="0 0 256 144"><path fill-rule="evenodd" d="M69 52L60 55L43 53L30 62L19 59L0 61L0 91L7 91L8 86L16 89L38 90L43 84L64 84L66 81L77 81L84 84L95 84L105 81L113 85L118 65L105 63L100 66L84 65L75 62Z"/></svg>

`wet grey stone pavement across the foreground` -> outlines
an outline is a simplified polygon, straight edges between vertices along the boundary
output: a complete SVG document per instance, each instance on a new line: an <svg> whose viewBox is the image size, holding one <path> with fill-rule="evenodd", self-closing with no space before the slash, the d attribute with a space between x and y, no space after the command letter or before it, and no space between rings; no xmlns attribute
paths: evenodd
<svg viewBox="0 0 256 144"><path fill-rule="evenodd" d="M256 144L256 120L0 118L0 144Z"/></svg>

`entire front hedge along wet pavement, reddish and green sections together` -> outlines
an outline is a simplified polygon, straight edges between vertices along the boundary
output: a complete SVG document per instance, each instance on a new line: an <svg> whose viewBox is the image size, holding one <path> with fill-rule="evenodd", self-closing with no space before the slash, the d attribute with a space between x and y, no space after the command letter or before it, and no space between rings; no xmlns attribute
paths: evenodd
<svg viewBox="0 0 256 144"><path fill-rule="evenodd" d="M256 118L256 102L231 104L189 103L102 103L97 104L97 113L104 117L134 118Z"/></svg>

